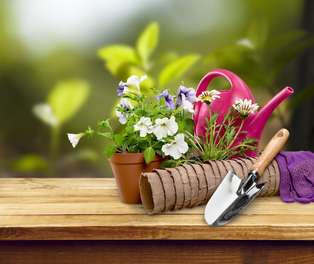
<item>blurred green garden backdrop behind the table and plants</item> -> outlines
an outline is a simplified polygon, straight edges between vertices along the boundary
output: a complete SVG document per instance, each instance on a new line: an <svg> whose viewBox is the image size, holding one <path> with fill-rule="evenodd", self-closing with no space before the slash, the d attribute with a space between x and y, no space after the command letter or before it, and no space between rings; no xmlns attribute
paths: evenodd
<svg viewBox="0 0 314 264"><path fill-rule="evenodd" d="M134 71L177 91L182 81L197 88L207 72L225 68L260 106L290 86L295 93L269 119L260 147L284 126L286 150L314 151L313 12L305 0L2 0L0 177L112 177L106 140L82 139L73 149L67 133L108 118L119 81ZM151 25L157 45L149 61L110 57L113 45L136 49ZM190 60L161 83L180 58ZM212 88L230 88L216 79ZM34 114L47 102L59 107L57 126Z"/></svg>

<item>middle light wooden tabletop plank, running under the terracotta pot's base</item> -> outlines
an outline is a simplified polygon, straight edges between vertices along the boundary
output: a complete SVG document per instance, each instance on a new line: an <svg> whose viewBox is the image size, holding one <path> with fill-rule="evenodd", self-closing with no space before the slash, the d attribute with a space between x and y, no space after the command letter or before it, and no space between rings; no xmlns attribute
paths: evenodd
<svg viewBox="0 0 314 264"><path fill-rule="evenodd" d="M0 215L26 214L142 214L141 204L124 204L117 189L18 189L2 190L0 193ZM167 214L204 213L205 205L185 208ZM280 197L258 197L242 214L314 215L314 203L284 203Z"/></svg>

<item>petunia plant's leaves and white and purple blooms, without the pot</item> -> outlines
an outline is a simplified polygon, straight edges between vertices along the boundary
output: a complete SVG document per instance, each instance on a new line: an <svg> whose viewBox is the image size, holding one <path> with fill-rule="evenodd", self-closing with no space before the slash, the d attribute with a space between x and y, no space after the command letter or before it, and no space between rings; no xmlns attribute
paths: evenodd
<svg viewBox="0 0 314 264"><path fill-rule="evenodd" d="M120 115L120 122L124 124L121 134L114 133L109 124L111 118L108 118L98 122L99 128L96 131L89 126L83 135L90 138L97 134L113 140L114 145L107 147L105 151L108 159L114 153L143 153L147 164L153 160L155 154L168 156L170 160L181 159L189 148L184 141L184 131L192 132L194 126L194 121L185 117L185 111L194 112L191 101L194 100L196 91L181 86L180 93L172 96L167 90L161 92L151 87L150 90L156 97L160 97L155 98L157 102L153 104L139 88L139 84L146 79L143 77L139 79L131 76L127 83L121 85L122 98L115 107ZM189 98L185 97L185 93L189 94ZM179 96L181 102L178 101ZM109 129L109 132L103 133L104 128ZM82 134L73 139L76 144L81 138L78 138L79 135Z"/></svg>

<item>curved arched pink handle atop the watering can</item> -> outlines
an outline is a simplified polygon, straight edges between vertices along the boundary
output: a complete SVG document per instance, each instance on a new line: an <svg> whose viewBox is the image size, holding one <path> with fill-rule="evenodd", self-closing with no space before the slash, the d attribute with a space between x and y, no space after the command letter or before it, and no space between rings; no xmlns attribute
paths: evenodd
<svg viewBox="0 0 314 264"><path fill-rule="evenodd" d="M245 84L245 82L236 74L234 74L231 71L225 70L225 69L217 69L210 71L207 73L203 79L200 81L197 90L196 90L196 96L199 96L202 92L207 90L208 84L211 82L212 79L216 77L224 77L226 78L230 84L232 92L246 92L250 95L251 98L253 98L253 95L249 89L249 87Z"/></svg>

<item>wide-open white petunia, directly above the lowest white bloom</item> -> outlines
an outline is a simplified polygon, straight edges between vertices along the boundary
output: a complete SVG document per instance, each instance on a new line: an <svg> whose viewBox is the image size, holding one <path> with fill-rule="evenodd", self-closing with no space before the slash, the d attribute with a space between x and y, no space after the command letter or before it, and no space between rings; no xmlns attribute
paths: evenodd
<svg viewBox="0 0 314 264"><path fill-rule="evenodd" d="M153 125L152 133L155 134L157 140L173 136L178 131L178 124L176 118L172 116L170 119L167 117L158 118Z"/></svg>

